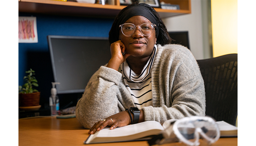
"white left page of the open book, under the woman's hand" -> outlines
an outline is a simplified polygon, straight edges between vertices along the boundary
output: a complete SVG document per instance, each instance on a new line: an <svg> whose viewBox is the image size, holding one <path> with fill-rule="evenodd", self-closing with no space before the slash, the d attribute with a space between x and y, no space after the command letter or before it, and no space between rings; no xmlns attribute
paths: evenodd
<svg viewBox="0 0 256 146"><path fill-rule="evenodd" d="M133 125L127 125L124 127L117 127L113 130L105 128L99 131L97 137L121 137L141 133L144 131L159 129L163 130L161 124L157 121L145 121Z"/></svg>

